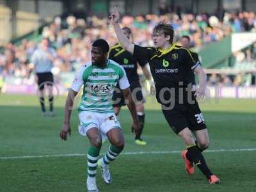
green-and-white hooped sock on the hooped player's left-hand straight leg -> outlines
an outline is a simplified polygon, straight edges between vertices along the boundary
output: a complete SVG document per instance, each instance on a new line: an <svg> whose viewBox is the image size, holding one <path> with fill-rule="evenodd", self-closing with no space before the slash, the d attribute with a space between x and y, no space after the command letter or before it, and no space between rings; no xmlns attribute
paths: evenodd
<svg viewBox="0 0 256 192"><path fill-rule="evenodd" d="M88 148L87 154L87 174L88 177L95 177L97 173L97 161L100 154L100 148L93 147Z"/></svg>

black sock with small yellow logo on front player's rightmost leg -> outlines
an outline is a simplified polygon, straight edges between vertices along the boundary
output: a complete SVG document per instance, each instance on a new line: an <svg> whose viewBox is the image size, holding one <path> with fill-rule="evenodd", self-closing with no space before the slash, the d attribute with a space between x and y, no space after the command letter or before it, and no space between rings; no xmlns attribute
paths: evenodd
<svg viewBox="0 0 256 192"><path fill-rule="evenodd" d="M189 161L193 161L193 163L196 164L196 166L200 169L202 173L204 173L207 179L211 178L212 173L209 170L207 164L205 163L204 156L202 156L200 150L198 150L196 145L188 148L186 157L189 159Z"/></svg>

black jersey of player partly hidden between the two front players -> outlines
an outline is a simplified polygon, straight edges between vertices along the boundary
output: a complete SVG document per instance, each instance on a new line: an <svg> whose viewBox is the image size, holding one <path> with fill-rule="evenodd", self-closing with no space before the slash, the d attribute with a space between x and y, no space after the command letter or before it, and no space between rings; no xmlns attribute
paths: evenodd
<svg viewBox="0 0 256 192"><path fill-rule="evenodd" d="M124 67L127 78L129 82L139 81L139 76L137 73L137 63L141 67L144 67L147 64L146 60L137 59L132 54L121 47L120 44L116 44L111 47L109 51L109 59L116 61Z"/></svg>

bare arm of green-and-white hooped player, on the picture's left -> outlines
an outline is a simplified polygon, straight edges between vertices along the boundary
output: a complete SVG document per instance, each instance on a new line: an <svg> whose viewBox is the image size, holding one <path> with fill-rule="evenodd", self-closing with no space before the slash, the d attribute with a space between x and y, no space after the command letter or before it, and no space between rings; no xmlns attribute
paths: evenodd
<svg viewBox="0 0 256 192"><path fill-rule="evenodd" d="M67 140L67 135L71 135L70 116L73 108L74 98L76 97L76 95L77 92L75 92L74 90L69 90L65 104L64 122L60 132L61 139L65 141Z"/></svg>

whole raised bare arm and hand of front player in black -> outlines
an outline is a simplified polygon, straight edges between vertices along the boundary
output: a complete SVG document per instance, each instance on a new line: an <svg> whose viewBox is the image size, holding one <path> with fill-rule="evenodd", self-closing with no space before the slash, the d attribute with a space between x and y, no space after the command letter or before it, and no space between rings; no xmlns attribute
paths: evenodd
<svg viewBox="0 0 256 192"><path fill-rule="evenodd" d="M118 41L120 42L121 46L126 50L131 52L133 54L134 50L134 44L132 44L129 39L124 35L122 29L120 28L118 24L119 20L119 13L115 8L115 12L111 13L109 16L109 21L113 25L113 28L115 29L116 36L118 38Z"/></svg>

